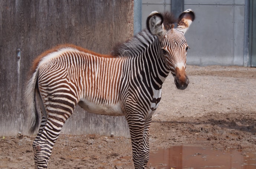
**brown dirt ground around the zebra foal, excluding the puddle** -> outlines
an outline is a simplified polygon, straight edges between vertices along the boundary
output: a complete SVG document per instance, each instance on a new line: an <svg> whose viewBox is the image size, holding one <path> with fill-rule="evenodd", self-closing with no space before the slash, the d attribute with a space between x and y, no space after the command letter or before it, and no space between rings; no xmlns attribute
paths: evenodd
<svg viewBox="0 0 256 169"><path fill-rule="evenodd" d="M186 90L176 89L172 76L163 85L150 129L151 152L179 145L256 152L256 68L188 66L187 75ZM34 168L34 138L0 138L0 168ZM132 169L131 154L129 138L61 135L49 168Z"/></svg>

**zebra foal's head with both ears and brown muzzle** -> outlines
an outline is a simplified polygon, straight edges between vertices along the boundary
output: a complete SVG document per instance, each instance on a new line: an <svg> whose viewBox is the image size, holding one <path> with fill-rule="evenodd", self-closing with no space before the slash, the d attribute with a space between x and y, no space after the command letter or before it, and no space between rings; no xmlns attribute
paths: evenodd
<svg viewBox="0 0 256 169"><path fill-rule="evenodd" d="M182 90L186 89L189 83L186 75L186 57L189 47L184 34L194 18L194 12L191 9L184 11L178 18L176 28L174 28L173 19L165 18L156 11L152 12L147 19L147 29L151 34L158 36L161 54L174 76L177 88Z"/></svg>

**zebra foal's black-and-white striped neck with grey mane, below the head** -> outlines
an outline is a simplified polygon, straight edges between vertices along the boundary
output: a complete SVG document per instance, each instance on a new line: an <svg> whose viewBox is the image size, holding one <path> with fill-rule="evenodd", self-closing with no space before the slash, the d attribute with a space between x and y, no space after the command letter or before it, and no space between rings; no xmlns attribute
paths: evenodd
<svg viewBox="0 0 256 169"><path fill-rule="evenodd" d="M143 81L148 87L157 90L161 89L170 72L161 52L158 37L153 36L147 29L138 33L131 40L116 46L112 55L128 57L132 78Z"/></svg>

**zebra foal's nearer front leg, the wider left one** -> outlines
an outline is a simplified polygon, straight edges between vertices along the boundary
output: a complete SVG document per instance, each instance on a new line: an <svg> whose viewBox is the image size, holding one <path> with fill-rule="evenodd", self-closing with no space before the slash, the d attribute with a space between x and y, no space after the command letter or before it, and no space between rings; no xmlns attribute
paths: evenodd
<svg viewBox="0 0 256 169"><path fill-rule="evenodd" d="M132 115L131 115L132 116ZM132 142L132 160L135 169L144 169L144 149L143 149L143 132L145 120L142 118L128 116L127 122L129 125L131 142Z"/></svg>

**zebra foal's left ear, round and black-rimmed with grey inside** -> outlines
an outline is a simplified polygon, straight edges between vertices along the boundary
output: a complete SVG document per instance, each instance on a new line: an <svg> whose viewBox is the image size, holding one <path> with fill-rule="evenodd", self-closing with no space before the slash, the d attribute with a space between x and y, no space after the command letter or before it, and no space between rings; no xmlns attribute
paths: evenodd
<svg viewBox="0 0 256 169"><path fill-rule="evenodd" d="M166 30L163 24L163 16L157 11L153 11L147 19L147 29L153 35L162 36Z"/></svg>

